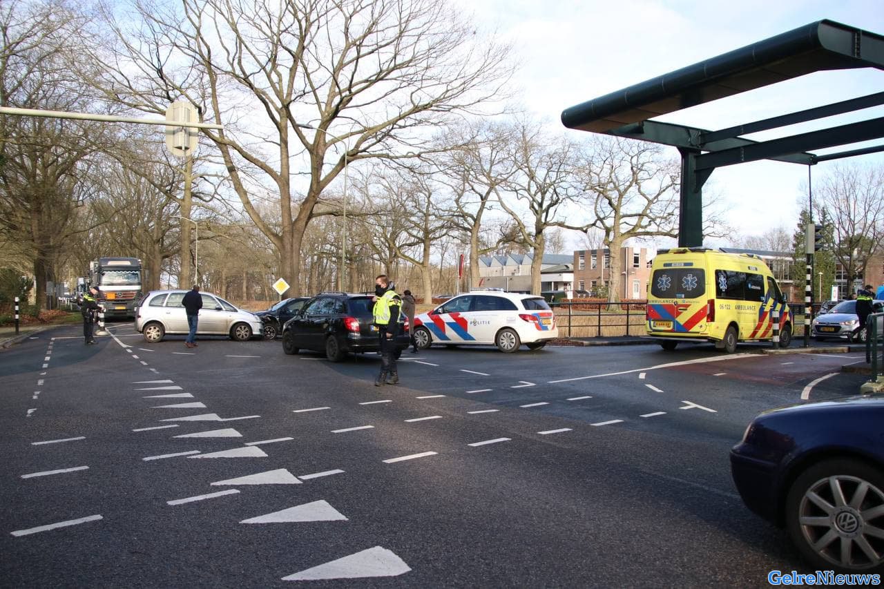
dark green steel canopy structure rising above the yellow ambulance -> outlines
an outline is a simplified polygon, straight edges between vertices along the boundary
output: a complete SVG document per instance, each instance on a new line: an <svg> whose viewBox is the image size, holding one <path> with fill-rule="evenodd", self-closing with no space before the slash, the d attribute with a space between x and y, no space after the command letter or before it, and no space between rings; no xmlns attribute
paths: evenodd
<svg viewBox="0 0 884 589"><path fill-rule="evenodd" d="M884 104L884 92L718 130L651 119L807 73L859 67L884 70L884 36L820 20L577 104L562 111L561 122L572 129L678 148L682 154L678 242L682 247L698 247L703 245L702 188L715 168L760 159L817 164L884 151L882 144L825 156L810 152L880 139L884 117L765 142L740 135L878 106Z"/></svg>

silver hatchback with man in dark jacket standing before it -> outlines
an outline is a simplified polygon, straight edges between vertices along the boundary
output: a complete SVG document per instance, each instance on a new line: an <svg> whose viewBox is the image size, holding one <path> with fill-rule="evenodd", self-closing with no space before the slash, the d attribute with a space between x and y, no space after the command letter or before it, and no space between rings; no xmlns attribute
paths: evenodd
<svg viewBox="0 0 884 589"><path fill-rule="evenodd" d="M181 300L186 290L153 290L135 310L135 329L150 343L163 340L166 333L187 334L187 313ZM197 335L227 335L232 340L248 341L263 335L261 318L241 310L220 296L200 293L202 309L196 326Z"/></svg>

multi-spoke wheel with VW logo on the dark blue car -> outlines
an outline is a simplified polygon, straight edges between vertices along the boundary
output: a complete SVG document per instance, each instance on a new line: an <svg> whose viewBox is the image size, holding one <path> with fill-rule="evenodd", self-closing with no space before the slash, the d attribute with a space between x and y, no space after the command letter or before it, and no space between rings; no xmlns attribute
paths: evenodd
<svg viewBox="0 0 884 589"><path fill-rule="evenodd" d="M851 458L812 466L789 489L786 524L819 570L884 569L884 473Z"/></svg>

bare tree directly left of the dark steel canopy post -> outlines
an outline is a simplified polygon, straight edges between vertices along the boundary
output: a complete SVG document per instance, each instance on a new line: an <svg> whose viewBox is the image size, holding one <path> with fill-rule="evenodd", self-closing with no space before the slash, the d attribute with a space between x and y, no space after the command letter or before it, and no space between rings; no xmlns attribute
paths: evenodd
<svg viewBox="0 0 884 589"><path fill-rule="evenodd" d="M678 169L653 143L601 138L581 167L593 226L611 252L608 300L620 300L621 248L633 238L674 237L678 214Z"/></svg>

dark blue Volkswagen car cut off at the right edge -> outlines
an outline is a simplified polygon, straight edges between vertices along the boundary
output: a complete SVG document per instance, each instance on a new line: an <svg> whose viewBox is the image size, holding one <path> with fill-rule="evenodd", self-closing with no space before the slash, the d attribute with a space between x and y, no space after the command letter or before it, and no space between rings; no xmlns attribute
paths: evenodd
<svg viewBox="0 0 884 589"><path fill-rule="evenodd" d="M730 463L749 509L816 570L884 570L884 396L762 413Z"/></svg>

